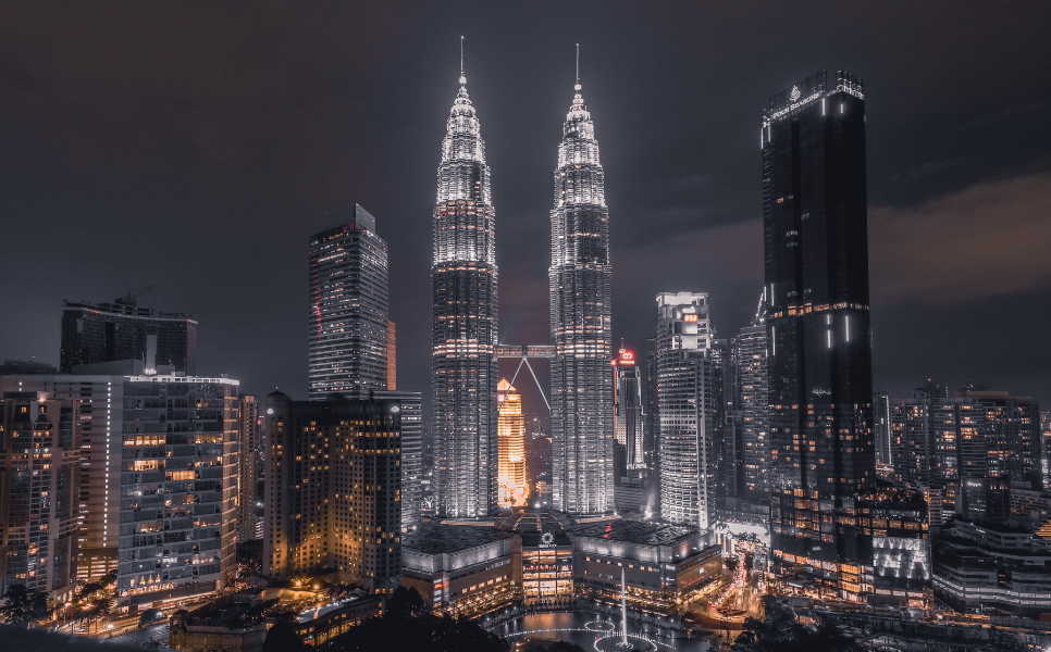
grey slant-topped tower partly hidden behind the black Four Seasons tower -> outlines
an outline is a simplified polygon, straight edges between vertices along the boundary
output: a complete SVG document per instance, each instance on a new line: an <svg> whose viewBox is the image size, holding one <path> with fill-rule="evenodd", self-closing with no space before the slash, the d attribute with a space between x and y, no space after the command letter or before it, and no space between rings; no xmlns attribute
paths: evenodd
<svg viewBox="0 0 1051 652"><path fill-rule="evenodd" d="M765 500L770 492L770 379L766 329L766 291L751 324L730 340L730 374L727 400L733 412L733 436L727 434L728 468L740 469L735 496ZM734 454L729 451L733 444ZM728 477L728 485L730 482ZM728 487L728 493L730 487Z"/></svg>

